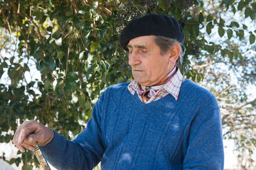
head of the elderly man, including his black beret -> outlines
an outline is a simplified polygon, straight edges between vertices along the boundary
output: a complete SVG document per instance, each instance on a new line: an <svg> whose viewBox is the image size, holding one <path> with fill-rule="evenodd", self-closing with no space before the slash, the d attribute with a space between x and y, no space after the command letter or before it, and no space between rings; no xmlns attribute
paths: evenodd
<svg viewBox="0 0 256 170"><path fill-rule="evenodd" d="M121 46L129 51L132 75L144 86L156 85L172 71L180 60L183 42L184 32L177 20L159 14L132 20L120 36Z"/></svg>

